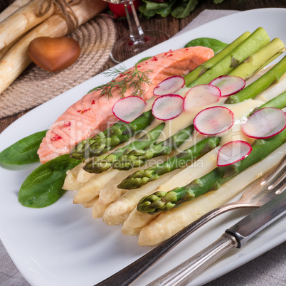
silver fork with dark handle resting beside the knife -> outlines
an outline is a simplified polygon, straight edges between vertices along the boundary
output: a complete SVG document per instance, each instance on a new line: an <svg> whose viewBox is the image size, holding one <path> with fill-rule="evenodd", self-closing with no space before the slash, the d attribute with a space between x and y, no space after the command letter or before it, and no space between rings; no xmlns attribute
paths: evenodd
<svg viewBox="0 0 286 286"><path fill-rule="evenodd" d="M260 177L253 184L245 188L243 196L239 201L227 203L219 208L213 209L206 213L197 221L186 226L182 231L176 233L168 240L161 243L157 248L154 248L146 255L142 256L134 263L128 265L126 268L110 276L106 280L98 283L97 285L114 285L114 286L127 286L142 275L149 267L162 258L174 246L186 238L189 234L196 231L211 219L237 208L258 208L263 206L275 196L279 195L286 189L286 155L282 158L280 163L271 169L267 174Z"/></svg>

